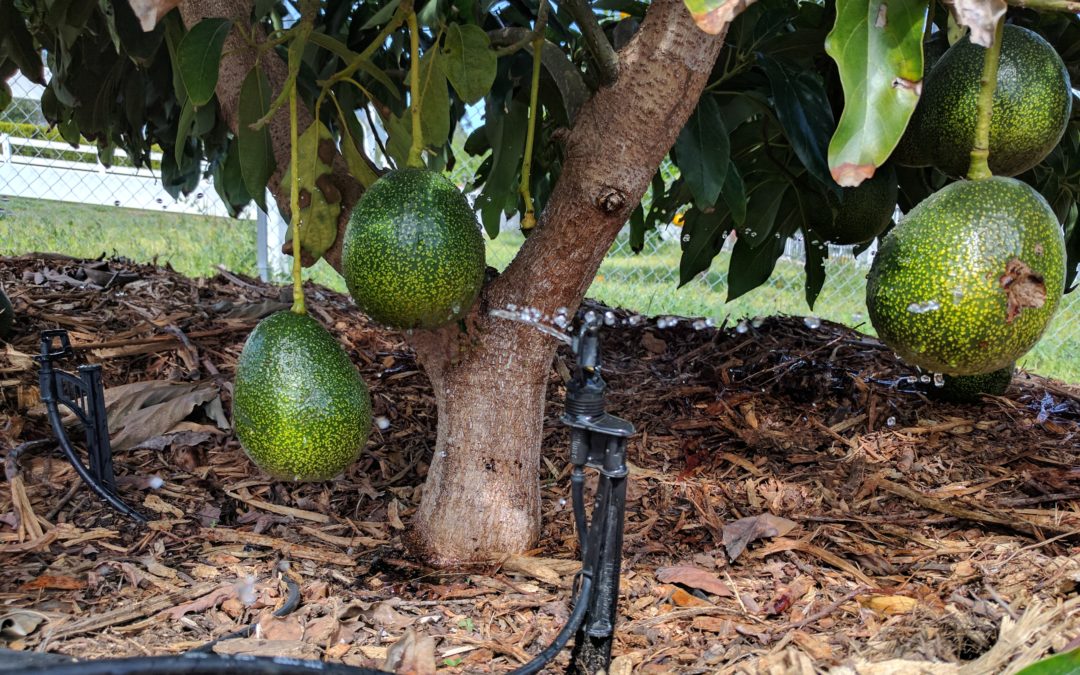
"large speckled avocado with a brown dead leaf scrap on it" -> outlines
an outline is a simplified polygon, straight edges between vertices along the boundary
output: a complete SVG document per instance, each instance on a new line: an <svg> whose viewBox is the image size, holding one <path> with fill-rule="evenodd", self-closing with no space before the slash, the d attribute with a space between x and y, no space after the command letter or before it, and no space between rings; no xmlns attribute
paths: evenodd
<svg viewBox="0 0 1080 675"><path fill-rule="evenodd" d="M1011 274L1041 279L1040 307L1018 311ZM866 278L881 339L908 363L946 375L1005 367L1042 335L1065 284L1061 225L1038 192L1014 178L961 180L923 200L886 237ZM1007 291L1008 288L1008 291ZM1026 296L1025 296L1026 297Z"/></svg>

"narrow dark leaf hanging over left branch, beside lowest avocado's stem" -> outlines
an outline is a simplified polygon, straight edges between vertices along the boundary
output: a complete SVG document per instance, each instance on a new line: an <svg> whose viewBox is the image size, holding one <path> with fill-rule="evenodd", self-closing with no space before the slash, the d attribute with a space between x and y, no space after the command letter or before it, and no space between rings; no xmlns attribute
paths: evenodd
<svg viewBox="0 0 1080 675"><path fill-rule="evenodd" d="M276 162L270 130L264 126L256 131L251 125L267 113L271 98L270 81L262 69L255 66L240 86L237 143L240 146L240 172L244 178L244 187L262 211L267 210L267 181L273 174Z"/></svg>

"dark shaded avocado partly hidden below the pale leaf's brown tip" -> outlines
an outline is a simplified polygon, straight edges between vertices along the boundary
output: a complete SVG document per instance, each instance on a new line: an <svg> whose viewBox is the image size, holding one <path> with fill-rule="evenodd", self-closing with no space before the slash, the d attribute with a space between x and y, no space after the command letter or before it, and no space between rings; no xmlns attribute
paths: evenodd
<svg viewBox="0 0 1080 675"><path fill-rule="evenodd" d="M896 210L896 170L886 164L859 187L841 188L839 198L828 192L826 199L829 212L821 214L813 230L839 246L865 244L892 221Z"/></svg>

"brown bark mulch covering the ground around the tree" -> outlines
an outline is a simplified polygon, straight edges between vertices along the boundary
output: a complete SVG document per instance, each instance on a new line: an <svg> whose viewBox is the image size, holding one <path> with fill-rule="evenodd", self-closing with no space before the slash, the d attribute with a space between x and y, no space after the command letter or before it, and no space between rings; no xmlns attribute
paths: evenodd
<svg viewBox="0 0 1080 675"><path fill-rule="evenodd" d="M381 423L343 476L292 485L228 431L243 341L287 292L57 256L2 258L0 283L19 316L0 343L0 646L177 653L257 621L215 650L376 666L433 652L441 672L499 673L566 620L562 368L540 548L438 571L401 545L433 396L402 336L348 297L308 289ZM120 489L158 515L147 528L48 441L30 355L53 327L104 367ZM796 318L623 322L604 350L609 408L638 430L612 673L1014 672L1077 645L1077 388L1021 374L1003 396L944 404L876 340ZM291 582L299 607L272 617Z"/></svg>

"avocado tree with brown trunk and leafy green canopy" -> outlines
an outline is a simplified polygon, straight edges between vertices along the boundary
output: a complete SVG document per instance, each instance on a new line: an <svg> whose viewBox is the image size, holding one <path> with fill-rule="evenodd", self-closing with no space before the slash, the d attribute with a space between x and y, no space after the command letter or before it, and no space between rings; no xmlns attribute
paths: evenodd
<svg viewBox="0 0 1080 675"><path fill-rule="evenodd" d="M1017 4L1051 10L1017 6L1008 19L1045 37L1076 87L1077 4ZM149 164L157 144L171 190L193 189L206 171L233 208L269 188L292 213L295 87L306 264L322 257L343 269L352 207L388 168L382 158L468 181L490 237L504 215L522 214L524 245L471 310L407 335L438 408L410 545L442 564L522 551L539 532L555 345L490 309L572 310L624 227L640 248L677 215L683 283L734 232L728 297L738 297L801 237L812 307L825 279L821 232L835 225L848 243L868 245L888 227L894 186L875 188L886 195L877 199L851 190L881 175L904 134L923 43L929 58L959 26L993 38L1005 11L990 0L955 0L949 11L927 0L132 5L137 14L123 1L0 0L0 75L17 69L45 84L46 119L71 143L95 143L103 161L123 148ZM1022 176L1065 228L1066 287L1080 260L1080 106L1071 110L1064 140ZM930 166L886 171L896 172L904 211L947 180ZM851 233L860 219L873 231Z"/></svg>

